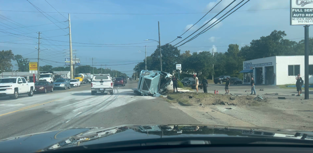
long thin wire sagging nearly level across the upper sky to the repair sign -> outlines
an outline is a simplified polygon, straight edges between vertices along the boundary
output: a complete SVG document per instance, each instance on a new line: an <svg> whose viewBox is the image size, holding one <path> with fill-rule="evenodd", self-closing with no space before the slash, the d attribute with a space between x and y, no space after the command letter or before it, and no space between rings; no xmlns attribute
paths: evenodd
<svg viewBox="0 0 313 153"><path fill-rule="evenodd" d="M273 9L258 9L258 10L243 10L237 12L249 12L249 11L266 11L266 10L280 10L280 9L290 9L288 8L273 8ZM0 11L9 11L9 12L34 12L36 11L15 11L15 10L0 10ZM104 15L171 15L171 14L204 14L207 12L192 12L192 13L78 13L78 12L43 12L43 13L70 13L70 14L104 14ZM218 12L210 12L218 13Z"/></svg>

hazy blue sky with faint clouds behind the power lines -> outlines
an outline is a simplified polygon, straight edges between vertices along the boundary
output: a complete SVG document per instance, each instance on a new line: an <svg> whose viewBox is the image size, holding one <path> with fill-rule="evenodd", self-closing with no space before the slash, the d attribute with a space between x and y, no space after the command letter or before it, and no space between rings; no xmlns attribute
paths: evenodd
<svg viewBox="0 0 313 153"><path fill-rule="evenodd" d="M141 43L133 45L90 45L90 44L76 44L73 43L73 49L76 49L76 55L80 57L81 64L90 64L91 57L95 57L94 65L107 64L128 64L134 62L126 61L141 61L144 59L145 45L147 47L147 56L149 56L156 49L157 42L146 42L144 39L158 40L158 21L160 22L161 45L171 42L177 36L185 32L192 24L197 22L205 13L208 12L220 0L47 0L59 13L44 13L52 22L62 22L55 24L47 19L42 13L33 7L29 2L44 12L56 12L44 0L10 0L2 1L0 6L0 41L14 41L16 43L29 44L11 44L0 43L1 50L11 49L13 53L25 55L24 57L37 58L35 51L36 42L38 39L38 31L47 31L41 34L42 38L52 39L66 42L56 42L41 40L40 49L51 49L40 52L40 57L43 59L64 62L67 54L62 54L64 49L69 49L69 36L66 35L69 30L60 28L68 27L68 13L71 13L71 32L72 42L81 43L97 43L97 44L129 44ZM237 0L238 2L241 0ZM237 4L235 2L233 5ZM223 0L212 13L206 15L198 24L186 32L182 38L186 38L192 32L201 27L206 21L213 18L220 10L227 6L232 0ZM273 30L285 31L287 36L285 38L294 39L304 37L303 26L290 26L289 21L289 0L250 0L246 5L239 8L238 11L224 19L215 27L208 30L206 33L200 35L191 42L186 43L183 47L179 47L181 51L190 50L191 52L199 51L214 51L225 52L231 43L239 45L249 44L253 39L259 39L261 36L269 35ZM268 10L274 9L274 10ZM11 10L11 11L4 11ZM258 10L258 11L254 11ZM12 12L12 11L34 11L34 12ZM75 14L75 13L118 13L113 14ZM162 14L156 13L192 13L192 14ZM123 14L123 15L121 15ZM137 15L131 15L137 14ZM154 14L154 15L138 15L138 14ZM223 13L222 13L223 14ZM3 17L4 16L4 17ZM11 19L11 20L8 20ZM217 18L219 18L218 16ZM216 18L216 19L217 19ZM5 20L4 20L5 19ZM56 20L55 20L56 19ZM216 20L214 19L214 20ZM6 21L7 20L7 21ZM13 21L14 22L13 22ZM13 23L10 23L10 22ZM17 22L17 23L16 23ZM42 25L48 24L48 25ZM34 26L29 28L17 28L23 26ZM42 26L35 26L42 25ZM4 30L7 29L7 30ZM59 29L59 30L56 30ZM48 31L53 30L53 31ZM8 36L10 32L14 34L21 34L28 37ZM29 34L23 34L29 33ZM313 34L310 32L310 35ZM12 34L11 34L12 35ZM59 37L54 37L59 36ZM51 38L47 38L51 37ZM23 40L31 39L31 40ZM179 42L172 42L174 45ZM300 41L301 39L295 39ZM50 46L49 46L50 45ZM51 46L64 45L64 46ZM102 46L102 47L78 47L79 46ZM103 47L116 46L116 47ZM122 47L126 46L126 47ZM138 46L138 47L131 47ZM216 46L216 47L212 47ZM240 46L242 47L242 46ZM35 52L34 52L35 51ZM33 52L33 53L31 53ZM67 51L66 51L67 52ZM36 60L31 60L36 61ZM53 65L54 67L63 65L56 62L41 62L40 65ZM110 63L105 63L110 62ZM114 63L112 63L114 62ZM115 63L116 62L116 63ZM131 75L135 64L107 66L126 74ZM96 66L100 67L100 66Z"/></svg>

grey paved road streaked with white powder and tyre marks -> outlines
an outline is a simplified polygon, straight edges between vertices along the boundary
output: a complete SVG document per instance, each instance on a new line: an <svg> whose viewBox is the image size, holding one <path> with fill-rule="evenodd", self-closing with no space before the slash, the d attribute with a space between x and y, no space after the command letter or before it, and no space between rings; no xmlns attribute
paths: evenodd
<svg viewBox="0 0 313 153"><path fill-rule="evenodd" d="M199 123L161 98L137 96L137 82L91 95L90 84L17 100L0 97L0 139L72 127Z"/></svg>

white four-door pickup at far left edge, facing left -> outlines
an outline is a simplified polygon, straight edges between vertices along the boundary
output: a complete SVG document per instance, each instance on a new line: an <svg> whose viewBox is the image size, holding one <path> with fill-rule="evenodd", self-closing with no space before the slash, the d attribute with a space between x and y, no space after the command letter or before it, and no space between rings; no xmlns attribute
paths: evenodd
<svg viewBox="0 0 313 153"><path fill-rule="evenodd" d="M23 77L6 77L0 79L0 97L10 96L18 99L18 95L28 94L33 96L35 84L27 82Z"/></svg>

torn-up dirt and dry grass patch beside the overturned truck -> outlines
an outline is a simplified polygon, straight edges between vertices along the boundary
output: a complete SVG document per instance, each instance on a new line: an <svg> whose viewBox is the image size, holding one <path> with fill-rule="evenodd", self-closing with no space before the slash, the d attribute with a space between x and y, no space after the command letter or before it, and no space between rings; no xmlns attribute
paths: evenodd
<svg viewBox="0 0 313 153"><path fill-rule="evenodd" d="M203 105L239 105L260 106L264 101L253 100L254 96L232 96L211 93L167 93L167 101L171 103L183 102L186 104ZM231 100L234 99L234 100Z"/></svg>

